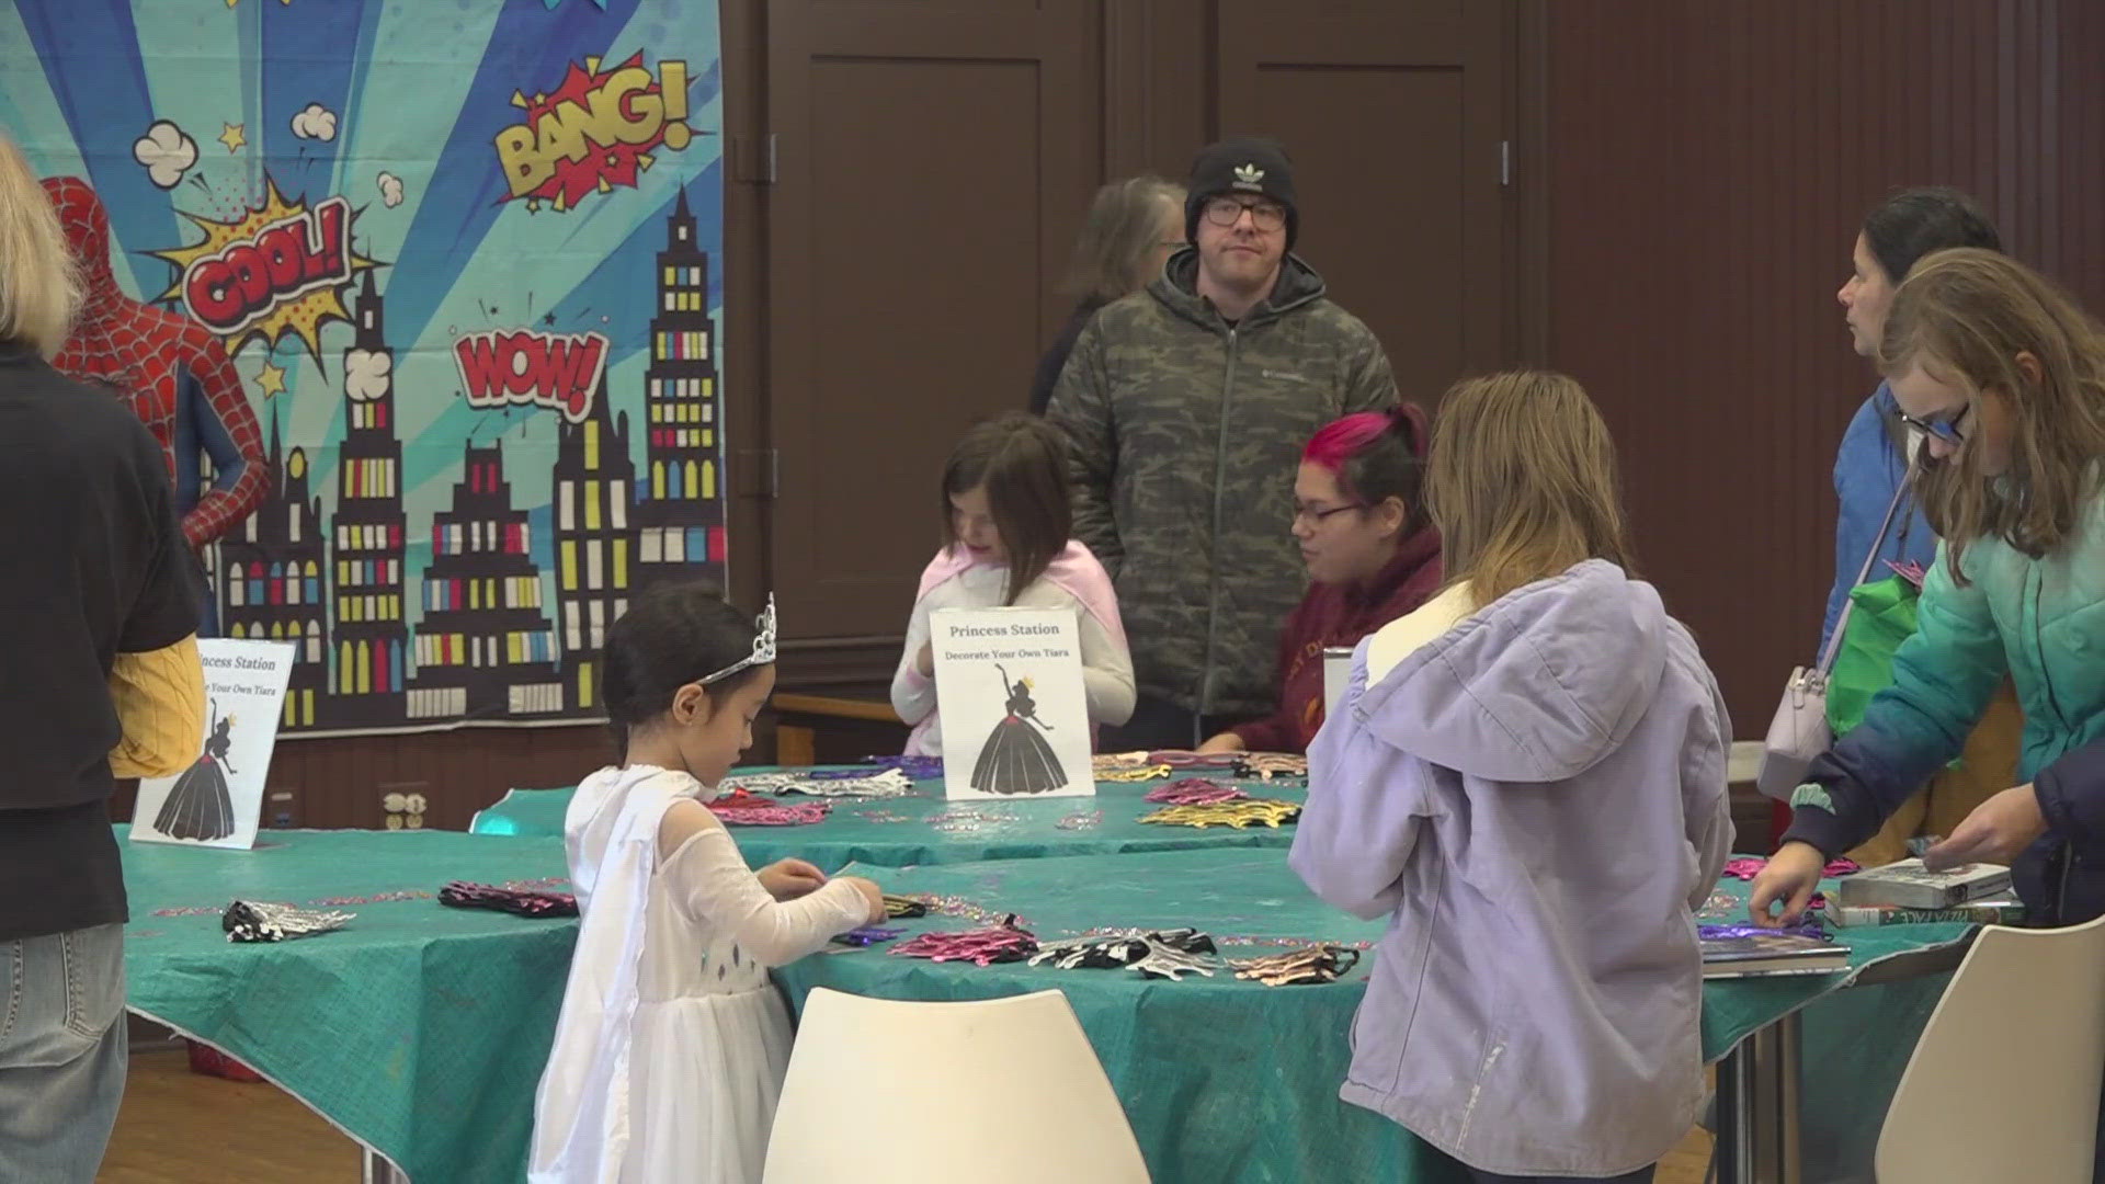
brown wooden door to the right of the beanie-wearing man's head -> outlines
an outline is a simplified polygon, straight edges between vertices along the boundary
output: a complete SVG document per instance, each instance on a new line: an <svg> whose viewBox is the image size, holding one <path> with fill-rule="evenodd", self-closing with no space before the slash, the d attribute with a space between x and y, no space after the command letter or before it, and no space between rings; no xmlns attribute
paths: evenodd
<svg viewBox="0 0 2105 1184"><path fill-rule="evenodd" d="M1507 23L1488 0L1219 0L1217 133L1286 143L1295 253L1427 409L1511 352Z"/></svg>

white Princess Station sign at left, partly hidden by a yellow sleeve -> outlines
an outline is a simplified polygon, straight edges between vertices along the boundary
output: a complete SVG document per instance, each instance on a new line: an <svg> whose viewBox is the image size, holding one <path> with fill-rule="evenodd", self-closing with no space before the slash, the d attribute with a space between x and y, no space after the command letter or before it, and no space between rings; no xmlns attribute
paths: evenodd
<svg viewBox="0 0 2105 1184"><path fill-rule="evenodd" d="M198 847L257 845L263 782L278 748L284 687L297 647L282 640L198 640L204 659L204 739L175 777L139 782L133 841Z"/></svg>

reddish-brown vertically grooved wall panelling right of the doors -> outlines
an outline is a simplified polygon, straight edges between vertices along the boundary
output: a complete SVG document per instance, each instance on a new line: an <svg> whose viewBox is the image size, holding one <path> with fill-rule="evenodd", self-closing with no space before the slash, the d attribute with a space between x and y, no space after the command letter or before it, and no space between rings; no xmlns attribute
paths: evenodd
<svg viewBox="0 0 2105 1184"><path fill-rule="evenodd" d="M1878 383L1836 289L1865 209L1974 192L2105 297L2097 4L1545 4L1547 358L1615 426L1640 554L1758 737L1819 638L1836 445Z"/></svg>

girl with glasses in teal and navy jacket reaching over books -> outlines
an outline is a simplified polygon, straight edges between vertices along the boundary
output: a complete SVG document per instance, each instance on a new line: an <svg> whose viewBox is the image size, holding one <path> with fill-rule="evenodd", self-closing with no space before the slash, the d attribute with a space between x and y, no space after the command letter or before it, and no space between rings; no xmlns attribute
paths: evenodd
<svg viewBox="0 0 2105 1184"><path fill-rule="evenodd" d="M2033 916L2061 923L2105 893L2105 868L2069 849L2031 786L2105 737L2105 331L2004 255L1941 251L1894 295L1880 369L1926 436L1916 480L1945 541L1892 685L1791 796L1753 914L1796 921L1825 860L1871 836L1958 756L2010 674L2025 708L2023 784L1974 809L1926 860L2010 864Z"/></svg>

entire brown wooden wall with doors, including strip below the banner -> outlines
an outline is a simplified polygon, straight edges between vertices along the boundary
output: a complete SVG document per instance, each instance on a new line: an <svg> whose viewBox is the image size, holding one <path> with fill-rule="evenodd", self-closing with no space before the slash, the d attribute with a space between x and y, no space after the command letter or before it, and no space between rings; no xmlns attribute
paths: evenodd
<svg viewBox="0 0 2105 1184"><path fill-rule="evenodd" d="M2099 61L2084 0L724 0L735 588L783 594L785 685L888 674L941 455L1021 404L1090 190L1271 131L1309 259L1406 392L1528 356L1598 396L1650 575L1758 735L1876 381L1833 303L1859 217L1968 188L2105 308ZM427 826L465 826L606 752L592 727L288 742L272 784L303 826L383 826L417 784Z"/></svg>

